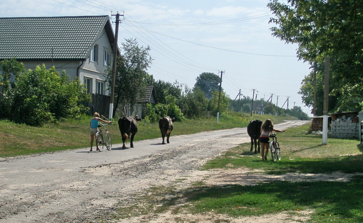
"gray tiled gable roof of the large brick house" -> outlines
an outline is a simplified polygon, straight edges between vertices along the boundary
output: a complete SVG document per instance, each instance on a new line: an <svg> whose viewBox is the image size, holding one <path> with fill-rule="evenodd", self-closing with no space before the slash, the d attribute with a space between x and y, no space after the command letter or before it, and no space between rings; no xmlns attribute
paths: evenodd
<svg viewBox="0 0 363 223"><path fill-rule="evenodd" d="M104 26L113 43L108 16L0 18L0 60L86 59Z"/></svg>

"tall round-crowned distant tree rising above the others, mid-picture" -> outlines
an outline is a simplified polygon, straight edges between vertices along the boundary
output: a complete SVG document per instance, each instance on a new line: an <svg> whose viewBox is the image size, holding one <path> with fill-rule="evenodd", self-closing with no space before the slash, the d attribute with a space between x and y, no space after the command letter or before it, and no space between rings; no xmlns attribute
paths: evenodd
<svg viewBox="0 0 363 223"><path fill-rule="evenodd" d="M212 98L212 92L219 90L220 77L214 73L201 73L194 87L199 87L207 99Z"/></svg>

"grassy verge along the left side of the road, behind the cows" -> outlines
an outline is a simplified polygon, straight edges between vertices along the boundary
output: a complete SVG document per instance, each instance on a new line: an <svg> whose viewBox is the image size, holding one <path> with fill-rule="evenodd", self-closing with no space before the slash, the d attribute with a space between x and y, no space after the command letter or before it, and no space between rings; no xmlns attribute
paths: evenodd
<svg viewBox="0 0 363 223"><path fill-rule="evenodd" d="M44 127L31 127L0 120L0 157L29 155L35 153L56 152L60 150L88 148L90 146L89 121L91 116L79 119L69 119L58 124L48 123ZM273 119L274 123L282 122L293 117L274 117L269 115L254 115L254 119ZM216 119L187 119L175 122L171 135L187 135L197 132L247 127L249 114L229 113L223 115L216 124ZM122 143L117 120L108 125L113 144ZM158 123L138 122L139 130L135 141L156 139L161 137Z"/></svg>

